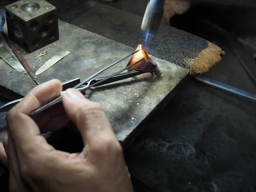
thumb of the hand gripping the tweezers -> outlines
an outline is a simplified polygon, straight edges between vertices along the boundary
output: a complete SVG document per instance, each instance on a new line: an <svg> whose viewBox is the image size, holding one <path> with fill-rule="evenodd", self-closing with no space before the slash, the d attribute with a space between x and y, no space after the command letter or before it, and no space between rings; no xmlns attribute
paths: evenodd
<svg viewBox="0 0 256 192"><path fill-rule="evenodd" d="M85 143L116 140L101 105L86 99L78 90L68 89L63 97L67 116L76 124Z"/></svg>

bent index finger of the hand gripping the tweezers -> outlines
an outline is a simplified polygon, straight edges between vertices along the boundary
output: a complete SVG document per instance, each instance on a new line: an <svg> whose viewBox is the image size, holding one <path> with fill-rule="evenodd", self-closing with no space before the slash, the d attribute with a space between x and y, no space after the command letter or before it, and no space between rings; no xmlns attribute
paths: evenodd
<svg viewBox="0 0 256 192"><path fill-rule="evenodd" d="M47 81L32 89L21 102L7 113L9 133L11 139L15 141L17 153L19 150L27 152L31 148L37 148L35 151L53 149L40 136L38 125L29 116L29 113L55 99L60 95L61 90L62 86L59 80Z"/></svg>

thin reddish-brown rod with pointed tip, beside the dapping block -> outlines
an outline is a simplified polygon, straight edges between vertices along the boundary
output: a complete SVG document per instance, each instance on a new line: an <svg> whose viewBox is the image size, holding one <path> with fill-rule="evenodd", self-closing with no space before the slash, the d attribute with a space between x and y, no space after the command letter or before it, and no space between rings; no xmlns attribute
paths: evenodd
<svg viewBox="0 0 256 192"><path fill-rule="evenodd" d="M18 52L18 49L15 46L15 44L8 38L8 36L6 35L6 33L4 31L2 31L1 33L4 36L4 38L6 39L9 46L11 47L14 54L16 55L17 59L20 61L20 63L24 67L24 69L29 73L29 76L33 79L33 81L35 81L36 84L40 84L35 73L31 69L29 64L26 62L25 58Z"/></svg>

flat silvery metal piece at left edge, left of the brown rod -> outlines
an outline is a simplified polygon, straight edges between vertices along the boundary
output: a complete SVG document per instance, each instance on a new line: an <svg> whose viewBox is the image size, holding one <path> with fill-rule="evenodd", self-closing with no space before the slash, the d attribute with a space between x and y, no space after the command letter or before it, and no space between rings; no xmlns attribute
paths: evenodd
<svg viewBox="0 0 256 192"><path fill-rule="evenodd" d="M4 45L0 47L0 58L19 73L27 73L20 61Z"/></svg>

